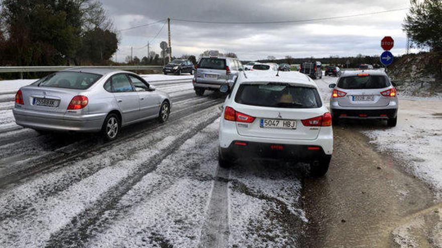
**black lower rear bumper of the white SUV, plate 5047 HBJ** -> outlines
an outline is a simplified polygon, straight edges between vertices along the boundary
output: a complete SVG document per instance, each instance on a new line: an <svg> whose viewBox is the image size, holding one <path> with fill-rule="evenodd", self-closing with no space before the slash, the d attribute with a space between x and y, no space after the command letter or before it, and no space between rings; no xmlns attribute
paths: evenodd
<svg viewBox="0 0 442 248"><path fill-rule="evenodd" d="M278 161L305 161L330 159L320 146L260 143L235 140L229 147L219 147L223 159L260 158Z"/></svg>

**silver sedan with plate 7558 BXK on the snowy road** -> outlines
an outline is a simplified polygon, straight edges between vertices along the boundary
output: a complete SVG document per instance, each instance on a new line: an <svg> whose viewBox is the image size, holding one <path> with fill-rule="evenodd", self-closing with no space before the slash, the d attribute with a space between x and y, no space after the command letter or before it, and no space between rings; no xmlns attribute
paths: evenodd
<svg viewBox="0 0 442 248"><path fill-rule="evenodd" d="M137 74L111 69L68 69L22 87L16 123L37 131L102 132L114 140L121 127L158 118L171 109L167 93Z"/></svg>

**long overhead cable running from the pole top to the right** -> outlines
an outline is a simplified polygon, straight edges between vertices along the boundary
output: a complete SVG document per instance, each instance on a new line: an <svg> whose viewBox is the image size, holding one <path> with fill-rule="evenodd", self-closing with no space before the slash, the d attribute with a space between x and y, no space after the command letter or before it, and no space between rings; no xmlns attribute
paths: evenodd
<svg viewBox="0 0 442 248"><path fill-rule="evenodd" d="M362 13L362 14L339 16L339 17L304 19L304 20L288 20L288 21L269 21L269 22L212 22L212 21L187 20L187 19L175 19L175 18L173 18L172 20L179 21L179 22L187 22L187 23L206 23L206 24L283 24L283 23L303 23L303 22L313 22L313 21L335 20L335 19L350 18L350 17L361 17L361 16L377 15L377 14L382 14L382 13L389 13L389 12L396 12L396 11L403 11L403 10L408 10L408 8L394 9L394 10L388 10L388 11L370 12L370 13Z"/></svg>

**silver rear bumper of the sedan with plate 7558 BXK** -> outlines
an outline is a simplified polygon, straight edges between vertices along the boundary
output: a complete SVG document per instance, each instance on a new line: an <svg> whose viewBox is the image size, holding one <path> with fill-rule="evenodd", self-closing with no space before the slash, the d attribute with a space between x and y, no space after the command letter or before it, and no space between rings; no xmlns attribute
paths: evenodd
<svg viewBox="0 0 442 248"><path fill-rule="evenodd" d="M18 108L14 108L13 113L17 125L52 131L98 132L106 117L105 113L66 115Z"/></svg>

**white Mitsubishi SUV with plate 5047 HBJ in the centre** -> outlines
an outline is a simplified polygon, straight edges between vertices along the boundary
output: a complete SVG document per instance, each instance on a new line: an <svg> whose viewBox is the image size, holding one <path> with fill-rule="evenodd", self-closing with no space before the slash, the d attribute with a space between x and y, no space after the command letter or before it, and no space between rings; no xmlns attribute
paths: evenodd
<svg viewBox="0 0 442 248"><path fill-rule="evenodd" d="M218 161L305 161L323 176L333 152L332 116L316 84L298 72L240 73L219 124Z"/></svg>

